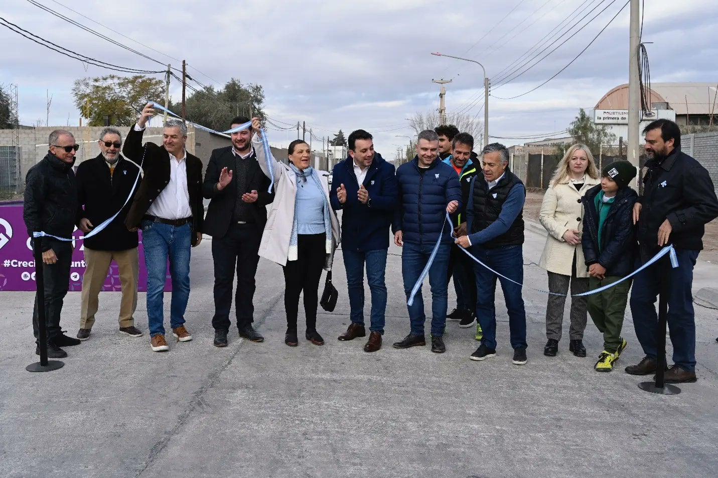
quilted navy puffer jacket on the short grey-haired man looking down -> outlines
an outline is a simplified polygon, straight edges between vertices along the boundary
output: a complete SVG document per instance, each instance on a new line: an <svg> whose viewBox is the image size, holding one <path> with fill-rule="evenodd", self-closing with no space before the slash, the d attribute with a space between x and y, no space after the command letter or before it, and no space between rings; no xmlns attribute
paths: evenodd
<svg viewBox="0 0 718 478"><path fill-rule="evenodd" d="M392 230L401 230L403 240L421 245L433 245L444 228L447 205L458 201L461 207L461 187L454 168L437 156L424 172L419 169L419 157L402 164L396 170L399 208ZM442 243L452 243L449 226L445 226Z"/></svg>

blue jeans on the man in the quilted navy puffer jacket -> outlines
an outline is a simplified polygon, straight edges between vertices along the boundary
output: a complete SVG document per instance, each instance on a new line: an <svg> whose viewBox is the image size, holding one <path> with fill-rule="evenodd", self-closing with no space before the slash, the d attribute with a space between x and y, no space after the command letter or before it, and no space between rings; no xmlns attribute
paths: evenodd
<svg viewBox="0 0 718 478"><path fill-rule="evenodd" d="M442 337L444 325L447 322L447 306L449 304L447 271L449 267L449 250L451 244L439 245L437 256L434 258L432 267L429 268L429 286L432 289L432 335ZM417 243L404 242L404 251L401 253L401 275L404 276L404 293L406 300L409 300L411 289L414 283L424 271L429 256L432 255L434 244L419 245ZM409 309L409 320L411 321L411 333L424 335L424 297L421 296L421 287L416 291L414 303L406 306Z"/></svg>

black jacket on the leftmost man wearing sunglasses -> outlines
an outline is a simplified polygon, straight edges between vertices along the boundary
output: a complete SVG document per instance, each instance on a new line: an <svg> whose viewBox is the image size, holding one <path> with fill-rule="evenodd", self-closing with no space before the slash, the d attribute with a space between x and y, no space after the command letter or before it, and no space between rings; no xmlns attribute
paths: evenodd
<svg viewBox="0 0 718 478"><path fill-rule="evenodd" d="M59 238L72 237L79 209L73 164L74 160L65 163L48 151L28 170L22 217L30 237L35 228ZM43 240L42 251L52 249L55 242Z"/></svg>

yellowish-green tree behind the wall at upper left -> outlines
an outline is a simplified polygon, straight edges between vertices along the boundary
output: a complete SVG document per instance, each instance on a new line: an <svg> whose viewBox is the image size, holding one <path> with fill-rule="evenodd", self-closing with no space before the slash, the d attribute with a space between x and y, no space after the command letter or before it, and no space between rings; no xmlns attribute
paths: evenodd
<svg viewBox="0 0 718 478"><path fill-rule="evenodd" d="M164 98L164 82L144 75L80 78L73 95L89 126L103 126L106 115L112 125L131 126L148 101Z"/></svg>

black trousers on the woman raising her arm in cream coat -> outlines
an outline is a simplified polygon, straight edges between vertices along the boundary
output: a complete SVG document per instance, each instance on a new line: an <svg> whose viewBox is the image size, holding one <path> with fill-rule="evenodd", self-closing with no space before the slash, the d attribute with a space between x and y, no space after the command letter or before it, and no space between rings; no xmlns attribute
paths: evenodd
<svg viewBox="0 0 718 478"><path fill-rule="evenodd" d="M284 266L284 309L286 328L297 331L299 294L304 291L304 316L307 331L317 329L319 281L327 257L327 235L299 234L297 261L286 261Z"/></svg>

